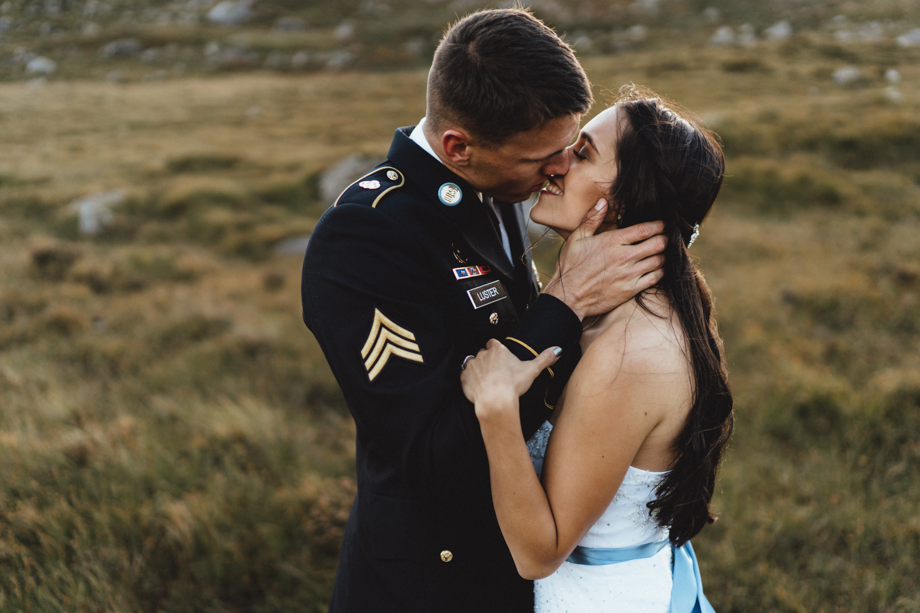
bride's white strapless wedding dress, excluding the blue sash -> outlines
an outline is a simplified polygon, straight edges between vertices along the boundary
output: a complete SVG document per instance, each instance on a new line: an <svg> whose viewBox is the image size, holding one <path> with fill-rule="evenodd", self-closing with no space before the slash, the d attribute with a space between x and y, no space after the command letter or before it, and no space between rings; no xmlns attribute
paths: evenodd
<svg viewBox="0 0 920 613"><path fill-rule="evenodd" d="M538 475L552 429L546 422L527 441ZM646 506L665 474L630 466L614 501L579 545L614 549L666 539L668 531L655 523ZM534 609L536 613L669 613L672 557L671 547L664 547L641 560L600 566L562 562L555 573L534 582Z"/></svg>

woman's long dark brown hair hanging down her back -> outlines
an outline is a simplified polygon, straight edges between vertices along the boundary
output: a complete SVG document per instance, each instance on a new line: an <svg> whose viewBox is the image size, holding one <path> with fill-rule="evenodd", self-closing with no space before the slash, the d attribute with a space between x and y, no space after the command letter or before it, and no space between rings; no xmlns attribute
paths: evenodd
<svg viewBox="0 0 920 613"><path fill-rule="evenodd" d="M636 300L655 314L645 296L661 292L668 298L683 328L693 370L693 406L675 443L677 455L649 503L658 523L671 528L671 542L680 547L715 521L709 502L734 426L712 297L687 253L719 194L725 160L711 132L653 93L630 86L621 90L615 105L621 123L608 221L615 218L619 227L664 221L664 277Z"/></svg>

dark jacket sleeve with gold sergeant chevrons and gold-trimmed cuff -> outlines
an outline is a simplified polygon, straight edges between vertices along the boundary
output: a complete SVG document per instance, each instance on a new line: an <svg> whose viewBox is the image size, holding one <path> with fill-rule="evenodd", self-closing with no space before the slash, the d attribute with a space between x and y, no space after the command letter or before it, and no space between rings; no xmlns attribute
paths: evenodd
<svg viewBox="0 0 920 613"><path fill-rule="evenodd" d="M435 274L410 230L380 210L340 204L316 225L301 289L305 324L339 382L362 446L409 482L434 489L488 468L473 405L460 386L463 356L431 292ZM518 357L533 358L525 346L565 350L580 335L574 313L545 296L509 335L519 342L505 342ZM525 436L546 418L550 380L556 377L541 375L539 389L522 399Z"/></svg>

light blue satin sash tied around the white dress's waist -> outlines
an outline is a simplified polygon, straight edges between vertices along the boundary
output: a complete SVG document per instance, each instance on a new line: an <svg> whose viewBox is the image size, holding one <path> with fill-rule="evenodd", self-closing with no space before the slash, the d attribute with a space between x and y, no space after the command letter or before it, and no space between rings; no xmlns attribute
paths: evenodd
<svg viewBox="0 0 920 613"><path fill-rule="evenodd" d="M655 555L668 544L668 539L653 543L622 547L617 549L592 549L576 547L566 562L603 566L629 560L642 560ZM703 595L703 579L699 575L699 564L690 541L679 549L673 550L673 567L671 588L671 613L716 613Z"/></svg>

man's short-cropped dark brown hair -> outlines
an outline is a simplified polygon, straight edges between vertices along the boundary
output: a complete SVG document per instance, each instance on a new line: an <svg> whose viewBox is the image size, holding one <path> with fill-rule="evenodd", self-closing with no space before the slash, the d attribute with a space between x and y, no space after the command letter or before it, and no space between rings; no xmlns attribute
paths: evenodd
<svg viewBox="0 0 920 613"><path fill-rule="evenodd" d="M575 53L523 8L473 13L447 30L434 52L426 121L456 121L497 147L512 134L585 113L591 84Z"/></svg>

